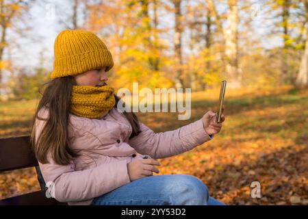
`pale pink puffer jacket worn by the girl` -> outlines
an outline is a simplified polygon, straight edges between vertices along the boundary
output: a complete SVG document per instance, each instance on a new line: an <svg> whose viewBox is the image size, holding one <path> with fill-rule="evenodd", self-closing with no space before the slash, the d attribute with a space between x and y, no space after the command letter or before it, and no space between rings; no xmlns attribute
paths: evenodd
<svg viewBox="0 0 308 219"><path fill-rule="evenodd" d="M48 110L40 110L39 116L47 118ZM36 141L44 123L36 119ZM142 132L129 140L131 125L116 108L99 119L70 114L68 145L80 156L66 166L55 164L50 155L49 164L39 163L44 181L54 183L55 199L68 205L90 205L93 198L130 182L127 163L132 159L170 157L213 137L205 132L201 119L162 133L154 133L143 123L140 129Z"/></svg>

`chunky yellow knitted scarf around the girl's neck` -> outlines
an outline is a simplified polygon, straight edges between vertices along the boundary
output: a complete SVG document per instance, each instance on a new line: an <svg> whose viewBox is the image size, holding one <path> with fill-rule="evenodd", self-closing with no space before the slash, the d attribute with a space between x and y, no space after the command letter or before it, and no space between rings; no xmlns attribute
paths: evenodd
<svg viewBox="0 0 308 219"><path fill-rule="evenodd" d="M115 103L114 88L110 86L73 86L70 112L76 116L99 118Z"/></svg>

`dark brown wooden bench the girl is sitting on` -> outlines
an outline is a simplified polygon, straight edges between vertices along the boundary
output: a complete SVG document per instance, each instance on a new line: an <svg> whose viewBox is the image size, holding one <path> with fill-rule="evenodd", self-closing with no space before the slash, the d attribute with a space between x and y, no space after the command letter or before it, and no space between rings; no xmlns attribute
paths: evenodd
<svg viewBox="0 0 308 219"><path fill-rule="evenodd" d="M35 167L40 191L0 200L0 205L67 205L55 198L47 198L46 187L38 161L31 150L30 136L0 138L0 172Z"/></svg>

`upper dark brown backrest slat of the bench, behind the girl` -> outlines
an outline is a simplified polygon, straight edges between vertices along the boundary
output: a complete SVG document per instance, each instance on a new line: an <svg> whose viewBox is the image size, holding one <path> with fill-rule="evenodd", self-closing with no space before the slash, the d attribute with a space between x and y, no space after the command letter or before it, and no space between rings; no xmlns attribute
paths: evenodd
<svg viewBox="0 0 308 219"><path fill-rule="evenodd" d="M30 136L0 139L0 172L38 166Z"/></svg>

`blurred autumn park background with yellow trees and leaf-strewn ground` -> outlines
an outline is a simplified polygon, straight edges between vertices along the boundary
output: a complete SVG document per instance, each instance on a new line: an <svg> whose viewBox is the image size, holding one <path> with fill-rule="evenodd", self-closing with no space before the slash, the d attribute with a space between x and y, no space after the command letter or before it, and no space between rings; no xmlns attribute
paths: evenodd
<svg viewBox="0 0 308 219"><path fill-rule="evenodd" d="M118 88L191 88L192 117L138 113L156 132L217 110L210 142L159 160L233 205L308 204L308 0L0 0L0 138L29 135L63 29L87 29L112 51ZM261 198L251 197L251 183ZM0 199L39 190L33 168L0 174Z"/></svg>

